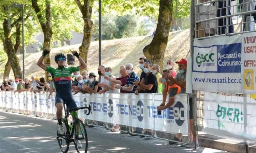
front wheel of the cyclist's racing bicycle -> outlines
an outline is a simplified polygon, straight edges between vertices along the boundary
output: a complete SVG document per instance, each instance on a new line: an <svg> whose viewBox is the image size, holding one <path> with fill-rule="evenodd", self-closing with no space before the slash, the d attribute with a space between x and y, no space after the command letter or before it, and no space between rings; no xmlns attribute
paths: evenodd
<svg viewBox="0 0 256 153"><path fill-rule="evenodd" d="M74 135L75 135L74 144L75 144L75 149L77 153L87 153L87 149L88 149L87 133L86 133L84 123L79 119L76 120L76 124L74 125ZM79 142L77 141L80 141L82 146L79 146Z"/></svg>

